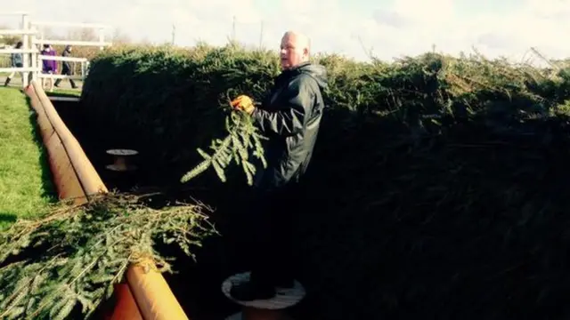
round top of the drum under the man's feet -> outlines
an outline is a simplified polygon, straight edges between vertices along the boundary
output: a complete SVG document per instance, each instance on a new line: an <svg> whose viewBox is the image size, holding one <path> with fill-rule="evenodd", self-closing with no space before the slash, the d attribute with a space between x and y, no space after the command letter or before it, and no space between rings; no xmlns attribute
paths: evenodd
<svg viewBox="0 0 570 320"><path fill-rule="evenodd" d="M277 288L277 294L273 299L253 301L236 300L230 294L232 286L247 282L249 280L249 275L249 272L244 272L228 277L222 284L222 292L224 292L225 296L230 300L240 304L241 306L269 310L289 308L305 298L305 288L296 280L295 285L292 288Z"/></svg>

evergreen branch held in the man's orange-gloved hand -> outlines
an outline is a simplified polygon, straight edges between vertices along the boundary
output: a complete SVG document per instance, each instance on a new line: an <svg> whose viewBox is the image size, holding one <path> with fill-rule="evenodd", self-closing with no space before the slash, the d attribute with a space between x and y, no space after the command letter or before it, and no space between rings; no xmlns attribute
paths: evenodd
<svg viewBox="0 0 570 320"><path fill-rule="evenodd" d="M191 171L186 172L181 179L182 182L187 182L197 177L200 173L208 170L209 167L213 167L218 178L225 182L225 170L234 162L243 168L248 185L251 186L253 184L256 165L249 161L249 156L252 154L261 161L264 167L267 166L261 142L261 140L266 138L257 132L251 116L241 111L232 111L226 116L225 131L228 134L223 140L212 140L210 148L214 151L213 154L208 155L204 150L198 148L198 153L204 160Z"/></svg>

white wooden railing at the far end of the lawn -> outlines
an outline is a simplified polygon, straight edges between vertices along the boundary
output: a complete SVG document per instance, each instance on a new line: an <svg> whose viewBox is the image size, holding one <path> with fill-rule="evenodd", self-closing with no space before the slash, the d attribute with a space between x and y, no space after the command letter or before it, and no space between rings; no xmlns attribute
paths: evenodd
<svg viewBox="0 0 570 320"><path fill-rule="evenodd" d="M62 21L29 21L27 12L0 12L0 15L21 15L21 28L19 29L0 29L0 36L22 36L21 49L0 49L0 54L21 53L22 54L22 67L21 68L0 68L0 72L22 72L22 86L26 87L29 84L29 79L37 78L50 78L50 79L72 79L72 80L85 80L89 61L85 58L77 57L61 57L61 56L46 56L41 54L43 44L61 44L61 45L77 45L77 46L97 46L100 50L112 45L110 42L105 42L104 30L108 26L93 24L93 23L73 23ZM42 26L61 26L61 27L78 27L78 28L96 28L99 31L99 41L76 41L76 40L56 40L46 39ZM56 61L69 61L81 64L80 76L67 76L67 75L54 75L42 73L43 60L56 60ZM29 76L31 73L31 77Z"/></svg>

